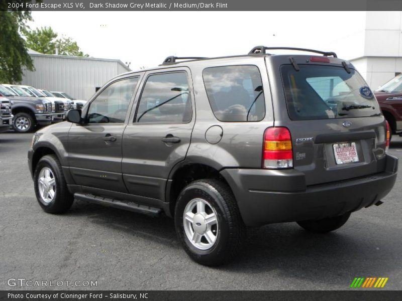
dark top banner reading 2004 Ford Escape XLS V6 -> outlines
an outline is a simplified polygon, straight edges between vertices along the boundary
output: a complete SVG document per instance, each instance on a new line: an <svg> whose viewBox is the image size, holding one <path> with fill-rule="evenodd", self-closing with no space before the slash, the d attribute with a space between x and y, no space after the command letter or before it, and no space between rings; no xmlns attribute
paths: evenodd
<svg viewBox="0 0 402 301"><path fill-rule="evenodd" d="M402 0L2 0L32 11L402 11ZM300 15L303 19L303 15ZM297 20L294 20L295 22Z"/></svg>

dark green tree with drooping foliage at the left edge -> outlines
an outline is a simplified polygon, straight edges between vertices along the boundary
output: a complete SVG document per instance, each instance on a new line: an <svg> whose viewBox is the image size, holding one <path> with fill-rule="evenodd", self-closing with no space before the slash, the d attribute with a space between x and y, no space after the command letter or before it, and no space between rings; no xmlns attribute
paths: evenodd
<svg viewBox="0 0 402 301"><path fill-rule="evenodd" d="M18 9L9 10L8 2L0 1L0 82L7 83L22 81L23 67L34 70L25 41L20 35L22 30L27 29L26 22L32 20L31 12L25 6L31 1L13 2L20 5Z"/></svg>

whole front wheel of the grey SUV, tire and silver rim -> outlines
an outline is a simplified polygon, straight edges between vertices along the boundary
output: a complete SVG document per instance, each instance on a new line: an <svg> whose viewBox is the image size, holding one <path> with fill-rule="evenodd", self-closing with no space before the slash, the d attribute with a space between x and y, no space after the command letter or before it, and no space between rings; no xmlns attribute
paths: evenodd
<svg viewBox="0 0 402 301"><path fill-rule="evenodd" d="M46 155L39 160L34 172L34 187L36 199L47 213L64 213L74 201L73 195L67 190L60 162L55 155Z"/></svg>

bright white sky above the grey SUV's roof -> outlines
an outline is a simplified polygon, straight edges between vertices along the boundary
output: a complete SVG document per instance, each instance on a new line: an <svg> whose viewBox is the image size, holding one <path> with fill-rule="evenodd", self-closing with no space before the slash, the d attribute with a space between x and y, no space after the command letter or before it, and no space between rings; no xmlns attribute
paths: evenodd
<svg viewBox="0 0 402 301"><path fill-rule="evenodd" d="M91 57L159 65L170 55L246 54L254 46L335 51L353 58L349 41L365 12L33 12L32 29L50 26ZM353 40L353 39L352 39Z"/></svg>

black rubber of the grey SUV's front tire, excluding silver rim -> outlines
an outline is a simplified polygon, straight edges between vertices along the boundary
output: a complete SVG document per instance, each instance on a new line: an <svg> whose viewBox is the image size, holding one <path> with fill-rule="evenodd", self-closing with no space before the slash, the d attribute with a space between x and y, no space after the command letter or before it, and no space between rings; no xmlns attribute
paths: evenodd
<svg viewBox="0 0 402 301"><path fill-rule="evenodd" d="M54 197L50 202L46 202L41 197L39 189L40 174L41 171L45 168L51 170L53 178L55 179L54 190L53 190ZM47 213L53 213L53 214L64 213L68 209L70 209L74 201L73 195L69 193L67 189L66 181L64 179L60 162L55 155L46 155L39 160L34 172L34 187L38 203L42 207L42 209Z"/></svg>

